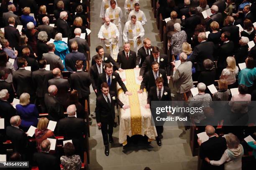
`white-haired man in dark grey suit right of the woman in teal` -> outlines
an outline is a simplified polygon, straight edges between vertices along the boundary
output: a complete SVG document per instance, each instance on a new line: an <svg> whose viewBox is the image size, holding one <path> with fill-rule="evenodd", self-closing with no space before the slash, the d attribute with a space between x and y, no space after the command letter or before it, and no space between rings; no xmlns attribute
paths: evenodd
<svg viewBox="0 0 256 170"><path fill-rule="evenodd" d="M72 51L71 49L72 42L76 41L78 45L78 52L84 53L84 55L88 59L87 51L90 51L90 47L85 39L80 38L81 29L80 28L74 29L74 34L75 34L75 37L69 40L69 51Z"/></svg>

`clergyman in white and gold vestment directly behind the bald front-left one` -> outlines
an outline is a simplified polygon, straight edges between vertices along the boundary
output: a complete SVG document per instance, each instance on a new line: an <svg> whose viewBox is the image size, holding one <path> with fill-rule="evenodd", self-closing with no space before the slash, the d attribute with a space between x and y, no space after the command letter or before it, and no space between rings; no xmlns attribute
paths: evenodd
<svg viewBox="0 0 256 170"><path fill-rule="evenodd" d="M118 46L121 47L123 36L122 36L122 24L121 18L123 17L123 12L120 7L116 6L115 0L110 0L110 7L107 8L105 17L110 18L110 22L115 24L119 31Z"/></svg>

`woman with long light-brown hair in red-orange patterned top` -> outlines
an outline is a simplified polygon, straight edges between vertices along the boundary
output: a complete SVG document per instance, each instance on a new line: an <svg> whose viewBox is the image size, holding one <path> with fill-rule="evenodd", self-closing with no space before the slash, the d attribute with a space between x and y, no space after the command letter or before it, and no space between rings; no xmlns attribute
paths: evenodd
<svg viewBox="0 0 256 170"><path fill-rule="evenodd" d="M38 152L41 152L41 143L47 138L55 138L53 131L47 129L49 120L46 117L39 119L37 129L35 130L36 144Z"/></svg>

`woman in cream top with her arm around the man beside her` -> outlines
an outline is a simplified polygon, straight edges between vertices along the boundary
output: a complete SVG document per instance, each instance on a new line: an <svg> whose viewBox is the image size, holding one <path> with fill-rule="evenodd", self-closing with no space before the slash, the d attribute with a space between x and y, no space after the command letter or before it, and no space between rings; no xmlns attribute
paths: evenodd
<svg viewBox="0 0 256 170"><path fill-rule="evenodd" d="M242 170L243 146L240 144L240 140L233 133L228 133L225 138L228 148L220 160L209 160L206 157L205 161L215 166L220 166L226 162L224 164L225 170Z"/></svg>

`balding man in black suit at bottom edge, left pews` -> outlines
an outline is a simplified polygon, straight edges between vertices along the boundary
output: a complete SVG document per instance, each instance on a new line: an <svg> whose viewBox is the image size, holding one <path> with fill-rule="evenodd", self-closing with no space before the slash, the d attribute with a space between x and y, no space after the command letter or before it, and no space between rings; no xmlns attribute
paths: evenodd
<svg viewBox="0 0 256 170"><path fill-rule="evenodd" d="M51 143L49 140L44 140L41 143L41 152L34 153L33 161L38 166L39 170L60 170L60 161L54 155L50 154Z"/></svg>

